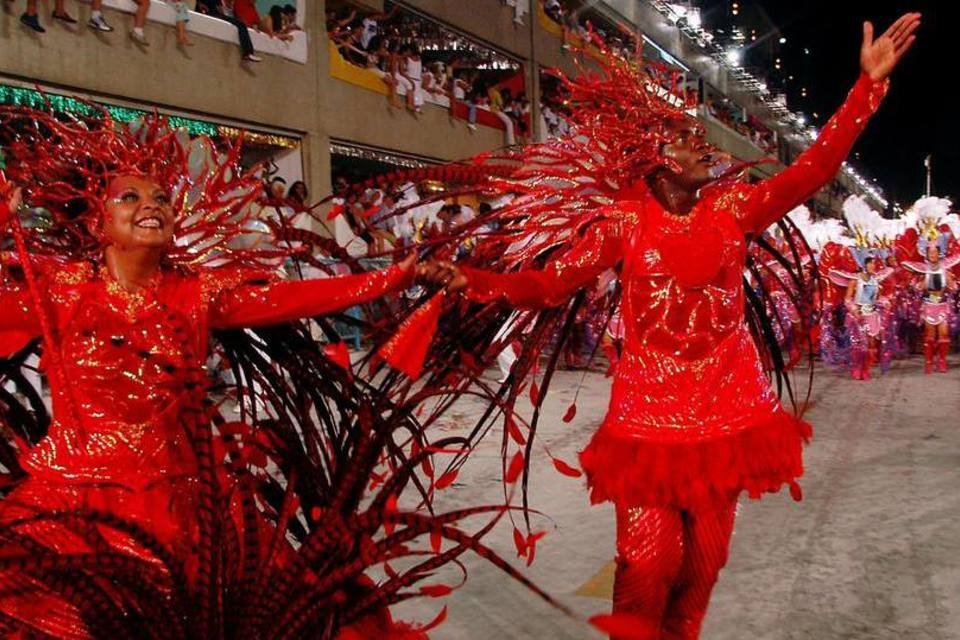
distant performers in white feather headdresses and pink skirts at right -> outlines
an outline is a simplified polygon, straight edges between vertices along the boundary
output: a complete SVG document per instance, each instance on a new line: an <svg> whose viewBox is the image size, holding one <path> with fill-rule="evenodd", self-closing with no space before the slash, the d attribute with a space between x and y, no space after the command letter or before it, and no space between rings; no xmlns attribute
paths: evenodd
<svg viewBox="0 0 960 640"><path fill-rule="evenodd" d="M837 220L791 212L822 277L819 353L831 366L869 380L875 365L922 352L926 373L946 372L957 329L960 216L945 198L919 199L883 218L859 196ZM806 327L816 324L811 316Z"/></svg>

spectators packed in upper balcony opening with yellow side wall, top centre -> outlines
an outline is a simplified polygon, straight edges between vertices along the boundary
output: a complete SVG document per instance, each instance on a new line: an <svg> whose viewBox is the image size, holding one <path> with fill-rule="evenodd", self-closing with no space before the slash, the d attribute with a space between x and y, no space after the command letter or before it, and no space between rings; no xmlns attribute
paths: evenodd
<svg viewBox="0 0 960 640"><path fill-rule="evenodd" d="M327 34L347 62L383 80L391 104L415 115L436 104L471 130L487 112L505 130L506 144L529 139L530 102L514 60L397 5L381 13L330 11Z"/></svg>

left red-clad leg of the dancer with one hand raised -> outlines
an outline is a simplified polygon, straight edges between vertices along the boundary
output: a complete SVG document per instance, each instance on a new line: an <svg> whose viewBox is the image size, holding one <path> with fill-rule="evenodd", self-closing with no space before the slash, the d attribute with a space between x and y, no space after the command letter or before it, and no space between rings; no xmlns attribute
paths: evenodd
<svg viewBox="0 0 960 640"><path fill-rule="evenodd" d="M613 612L634 620L634 640L660 638L670 590L683 564L683 529L677 509L617 505Z"/></svg>

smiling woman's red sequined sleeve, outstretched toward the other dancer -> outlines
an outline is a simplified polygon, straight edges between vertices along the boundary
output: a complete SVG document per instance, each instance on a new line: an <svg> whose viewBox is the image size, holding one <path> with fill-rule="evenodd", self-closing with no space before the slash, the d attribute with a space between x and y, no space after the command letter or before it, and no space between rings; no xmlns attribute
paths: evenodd
<svg viewBox="0 0 960 640"><path fill-rule="evenodd" d="M340 311L410 286L413 273L393 266L372 273L228 288L210 304L210 326L256 327Z"/></svg>

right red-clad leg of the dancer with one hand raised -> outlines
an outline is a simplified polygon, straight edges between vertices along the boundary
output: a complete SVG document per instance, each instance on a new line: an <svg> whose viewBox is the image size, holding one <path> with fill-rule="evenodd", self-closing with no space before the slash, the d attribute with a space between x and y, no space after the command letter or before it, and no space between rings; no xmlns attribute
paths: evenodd
<svg viewBox="0 0 960 640"><path fill-rule="evenodd" d="M670 593L663 640L696 640L720 569L727 563L736 499L716 509L684 512L683 565Z"/></svg>

